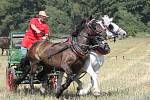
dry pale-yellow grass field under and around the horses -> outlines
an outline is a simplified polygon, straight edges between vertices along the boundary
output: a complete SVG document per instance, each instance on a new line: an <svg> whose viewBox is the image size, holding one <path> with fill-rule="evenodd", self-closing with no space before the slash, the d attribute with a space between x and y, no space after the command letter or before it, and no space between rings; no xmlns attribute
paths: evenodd
<svg viewBox="0 0 150 100"><path fill-rule="evenodd" d="M150 38L128 38L110 42L111 53L105 57L100 69L99 85L102 95L75 96L76 83L72 83L61 99L69 100L150 100ZM7 57L0 56L0 100L54 100L53 95L32 96L20 86L17 93L5 87ZM89 81L86 75L84 84Z"/></svg>

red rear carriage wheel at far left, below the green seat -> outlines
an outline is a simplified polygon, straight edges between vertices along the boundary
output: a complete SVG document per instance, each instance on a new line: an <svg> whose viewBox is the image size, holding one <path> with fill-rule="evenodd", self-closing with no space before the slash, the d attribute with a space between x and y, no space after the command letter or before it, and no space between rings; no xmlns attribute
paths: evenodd
<svg viewBox="0 0 150 100"><path fill-rule="evenodd" d="M8 91L16 91L17 85L14 83L15 70L13 68L6 69L6 86Z"/></svg>

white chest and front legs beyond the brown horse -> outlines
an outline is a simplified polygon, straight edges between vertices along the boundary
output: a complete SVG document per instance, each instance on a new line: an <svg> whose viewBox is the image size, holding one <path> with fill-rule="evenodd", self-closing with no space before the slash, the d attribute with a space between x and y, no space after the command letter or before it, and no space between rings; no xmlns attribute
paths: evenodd
<svg viewBox="0 0 150 100"><path fill-rule="evenodd" d="M100 95L100 89L98 85L98 74L99 69L104 63L104 55L98 54L95 51L91 51L89 58L86 60L83 71L86 71L91 77L91 83L88 84L86 88L83 88L82 82L80 80L76 80L78 83L78 94L84 95L87 94L91 88L93 88L93 95Z"/></svg>

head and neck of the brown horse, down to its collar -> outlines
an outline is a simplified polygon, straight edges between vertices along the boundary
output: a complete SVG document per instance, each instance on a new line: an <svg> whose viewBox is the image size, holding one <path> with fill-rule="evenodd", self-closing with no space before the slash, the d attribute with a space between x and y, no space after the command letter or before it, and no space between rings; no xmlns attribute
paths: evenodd
<svg viewBox="0 0 150 100"><path fill-rule="evenodd" d="M75 32L72 33L76 43L80 46L83 51L86 51L88 46L90 45L89 41L91 38L96 36L102 36L101 33L104 32L105 29L101 27L97 20L87 18L83 19L79 25L77 25Z"/></svg>

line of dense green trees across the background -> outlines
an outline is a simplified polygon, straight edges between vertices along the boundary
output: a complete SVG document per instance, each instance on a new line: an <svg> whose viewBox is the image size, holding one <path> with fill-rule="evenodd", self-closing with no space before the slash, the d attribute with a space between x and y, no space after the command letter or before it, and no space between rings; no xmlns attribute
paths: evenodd
<svg viewBox="0 0 150 100"><path fill-rule="evenodd" d="M70 34L83 18L103 15L136 36L150 33L150 0L1 0L0 35L25 31L30 18L45 10L55 34Z"/></svg>

